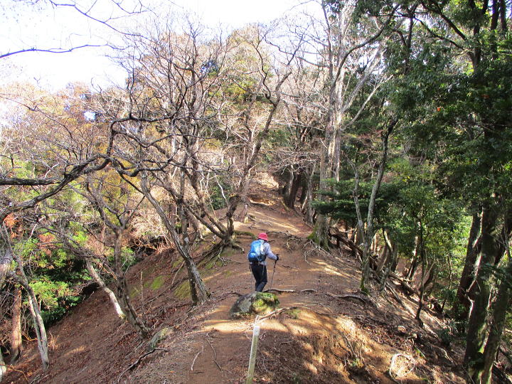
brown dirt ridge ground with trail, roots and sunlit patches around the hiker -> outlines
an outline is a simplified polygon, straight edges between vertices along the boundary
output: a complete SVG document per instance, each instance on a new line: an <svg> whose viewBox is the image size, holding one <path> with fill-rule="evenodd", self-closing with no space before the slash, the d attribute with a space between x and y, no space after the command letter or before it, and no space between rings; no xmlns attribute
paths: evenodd
<svg viewBox="0 0 512 384"><path fill-rule="evenodd" d="M284 207L272 181L258 191L237 230L268 233L280 259L275 270L269 262L266 289L273 274L272 289L293 292L278 292L282 310L258 320L256 383L464 383L462 351L436 336L440 319L427 309L420 328L415 299L379 295L376 283L370 299L359 299L356 259L311 244L311 228ZM247 250L252 238L237 240ZM131 268L137 311L153 334L168 329L156 349L97 291L48 329L50 368L41 371L31 341L5 383L245 383L255 319L229 316L238 295L254 287L245 252L200 265L212 297L197 307L175 252L161 249Z"/></svg>

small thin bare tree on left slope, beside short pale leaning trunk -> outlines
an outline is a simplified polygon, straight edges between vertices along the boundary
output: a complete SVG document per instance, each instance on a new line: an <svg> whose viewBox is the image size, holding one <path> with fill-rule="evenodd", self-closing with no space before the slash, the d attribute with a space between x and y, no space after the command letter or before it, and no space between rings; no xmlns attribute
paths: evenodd
<svg viewBox="0 0 512 384"><path fill-rule="evenodd" d="M133 189L124 186L112 170L95 176L87 175L82 179L80 188L73 190L85 199L89 207L87 210L94 211L97 217L91 218L91 213L76 212L72 207L66 206L65 202L61 202L58 206L53 206L53 210L60 206L59 210L63 215L58 217L48 214L51 220L46 223L46 228L58 236L65 249L85 260L87 271L107 293L117 315L127 320L141 338L146 338L149 329L137 314L129 297L127 272L132 264L131 256L124 255L129 223L137 215L143 198L135 196ZM92 225L95 221L97 225ZM75 230L70 225L73 222L88 233L88 242L84 243L75 238ZM115 292L105 284L98 268L112 279Z"/></svg>

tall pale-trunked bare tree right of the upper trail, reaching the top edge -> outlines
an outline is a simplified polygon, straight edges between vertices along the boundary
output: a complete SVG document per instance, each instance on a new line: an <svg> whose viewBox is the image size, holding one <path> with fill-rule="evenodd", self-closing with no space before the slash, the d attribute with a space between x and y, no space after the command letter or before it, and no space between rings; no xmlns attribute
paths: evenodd
<svg viewBox="0 0 512 384"><path fill-rule="evenodd" d="M319 164L319 189L328 190L329 178L339 179L340 140L342 132L353 124L366 103L373 97L370 92L361 103L359 112L349 116L360 92L382 63L381 40L394 10L384 23L378 18L354 22L356 2L338 3L322 1L323 18L306 16L308 23L294 25L294 31L304 43L299 57L324 71L323 83L326 97L324 105L324 140ZM320 200L324 197L320 196ZM315 241L328 247L329 219L319 214L314 230Z"/></svg>

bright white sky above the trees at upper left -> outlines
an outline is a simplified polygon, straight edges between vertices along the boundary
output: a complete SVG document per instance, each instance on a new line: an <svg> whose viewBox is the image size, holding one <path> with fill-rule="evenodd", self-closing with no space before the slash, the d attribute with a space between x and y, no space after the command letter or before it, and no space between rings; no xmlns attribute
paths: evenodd
<svg viewBox="0 0 512 384"><path fill-rule="evenodd" d="M133 4L123 0L125 10ZM208 26L236 28L247 23L269 22L311 1L300 0L141 0L156 14L176 11L196 14ZM61 4L78 4L78 9L90 9L98 20L110 19L118 28L131 28L144 23L148 13L126 17L112 0L60 0ZM138 2L138 1L137 1ZM118 34L105 24L80 14L70 6L51 6L48 0L1 0L0 14L5 21L0 26L0 55L26 48L67 48L85 44L102 45L115 41ZM105 48L80 48L71 53L18 53L0 58L3 75L0 85L16 80L36 82L49 90L58 90L69 82L81 81L105 87L120 84L124 73L105 57Z"/></svg>

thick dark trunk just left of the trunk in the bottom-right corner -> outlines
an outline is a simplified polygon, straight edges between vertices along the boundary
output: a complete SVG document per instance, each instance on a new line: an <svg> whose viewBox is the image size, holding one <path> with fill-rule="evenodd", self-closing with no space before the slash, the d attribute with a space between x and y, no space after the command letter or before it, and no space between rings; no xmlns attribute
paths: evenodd
<svg viewBox="0 0 512 384"><path fill-rule="evenodd" d="M484 369L484 341L486 339L487 311L492 287L491 271L487 265L493 264L496 260L496 253L500 249L498 244L500 233L498 213L499 209L496 203L486 202L482 209L480 267L476 273L476 297L469 314L464 354L464 366L468 383L481 383L481 375Z"/></svg>

